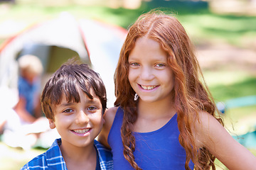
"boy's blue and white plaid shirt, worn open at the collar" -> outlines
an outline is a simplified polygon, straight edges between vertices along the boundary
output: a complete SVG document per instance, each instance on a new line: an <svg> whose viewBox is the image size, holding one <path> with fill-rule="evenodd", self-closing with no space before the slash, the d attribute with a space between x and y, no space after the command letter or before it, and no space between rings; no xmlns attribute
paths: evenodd
<svg viewBox="0 0 256 170"><path fill-rule="evenodd" d="M21 170L25 169L62 169L68 170L60 152L61 139L57 139L53 142L53 145L44 152L38 155L26 165L24 165ZM99 155L100 169L109 170L113 169L112 153L109 149L106 149L100 142L95 140L95 147L97 148L97 154Z"/></svg>

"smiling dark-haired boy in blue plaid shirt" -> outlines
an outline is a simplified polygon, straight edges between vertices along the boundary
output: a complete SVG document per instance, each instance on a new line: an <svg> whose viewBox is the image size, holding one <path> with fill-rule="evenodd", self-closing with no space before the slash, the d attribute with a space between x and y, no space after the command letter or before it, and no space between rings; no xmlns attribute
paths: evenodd
<svg viewBox="0 0 256 170"><path fill-rule="evenodd" d="M95 137L106 109L106 90L87 64L63 64L41 96L50 128L60 139L21 169L112 169L112 154Z"/></svg>

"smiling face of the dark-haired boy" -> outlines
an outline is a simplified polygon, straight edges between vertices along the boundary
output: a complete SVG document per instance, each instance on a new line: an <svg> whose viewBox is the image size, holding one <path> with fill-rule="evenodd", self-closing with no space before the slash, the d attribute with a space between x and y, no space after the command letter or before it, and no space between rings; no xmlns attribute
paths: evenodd
<svg viewBox="0 0 256 170"><path fill-rule="evenodd" d="M80 103L68 103L63 96L60 104L55 106L55 120L49 120L50 128L56 128L61 136L62 147L92 146L104 123L100 98L91 90L91 100L80 88L77 89Z"/></svg>

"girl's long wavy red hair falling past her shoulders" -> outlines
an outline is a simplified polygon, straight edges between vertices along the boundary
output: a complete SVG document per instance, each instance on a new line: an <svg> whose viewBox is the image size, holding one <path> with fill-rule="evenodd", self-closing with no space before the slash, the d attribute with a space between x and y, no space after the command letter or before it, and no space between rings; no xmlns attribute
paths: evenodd
<svg viewBox="0 0 256 170"><path fill-rule="evenodd" d="M168 63L174 72L174 107L177 111L179 142L186 150L185 169L190 169L190 160L195 169L215 169L215 157L206 148L197 148L191 125L198 120L198 112L206 111L222 125L223 121L216 114L215 103L203 80L201 69L196 60L194 47L181 23L171 15L161 11L145 13L129 28L129 33L122 46L119 62L114 74L115 106L124 108L121 135L124 145L124 157L134 167L140 169L134 161L135 139L132 135L133 124L137 120L137 101L135 92L129 84L128 57L137 38L146 36L156 40L168 54ZM164 160L163 160L164 161Z"/></svg>

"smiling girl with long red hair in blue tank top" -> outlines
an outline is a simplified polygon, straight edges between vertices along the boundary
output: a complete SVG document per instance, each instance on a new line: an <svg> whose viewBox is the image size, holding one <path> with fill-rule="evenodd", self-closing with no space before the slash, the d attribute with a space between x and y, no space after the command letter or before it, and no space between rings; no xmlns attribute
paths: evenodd
<svg viewBox="0 0 256 170"><path fill-rule="evenodd" d="M183 26L161 12L129 28L114 75L114 105L99 140L112 149L114 169L256 169L256 157L223 128L201 83Z"/></svg>

